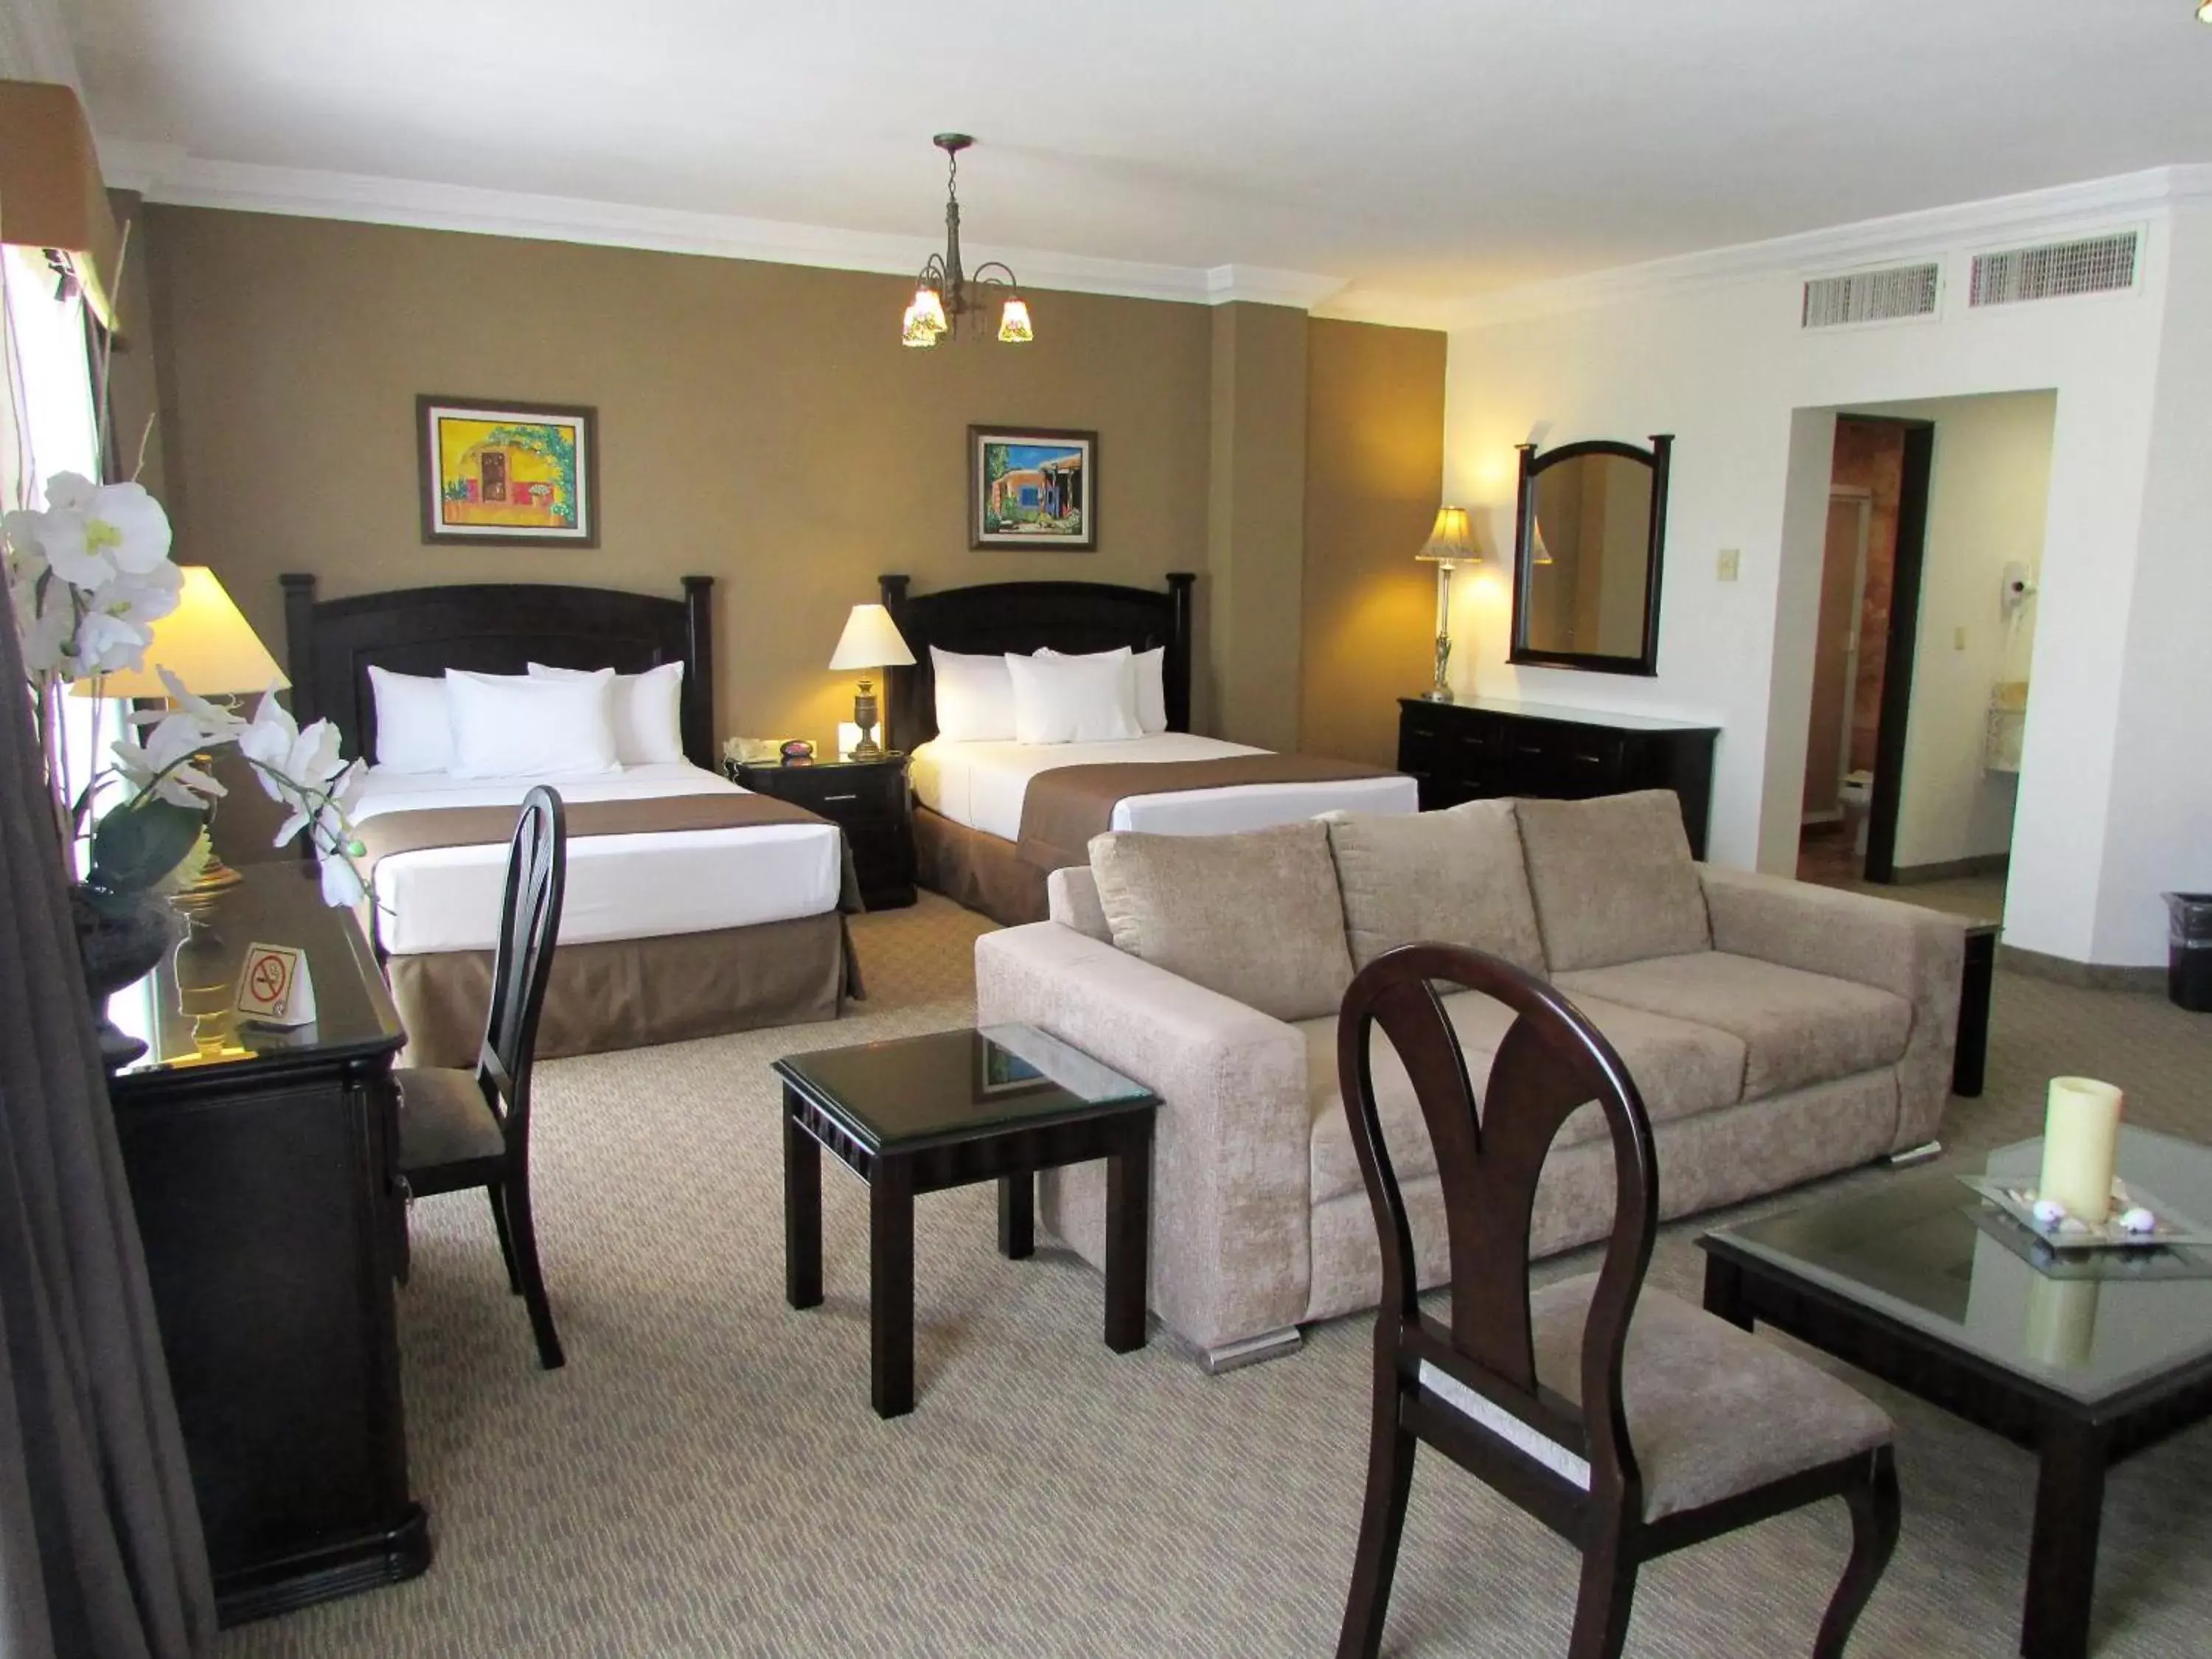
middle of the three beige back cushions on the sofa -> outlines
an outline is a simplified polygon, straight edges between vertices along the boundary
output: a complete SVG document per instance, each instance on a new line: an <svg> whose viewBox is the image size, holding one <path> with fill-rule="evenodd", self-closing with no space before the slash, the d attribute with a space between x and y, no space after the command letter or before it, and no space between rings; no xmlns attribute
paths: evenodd
<svg viewBox="0 0 2212 1659"><path fill-rule="evenodd" d="M1329 825L1354 967L1413 940L1442 940L1544 971L1511 801L1469 801L1449 812L1325 812L1321 821Z"/></svg>

